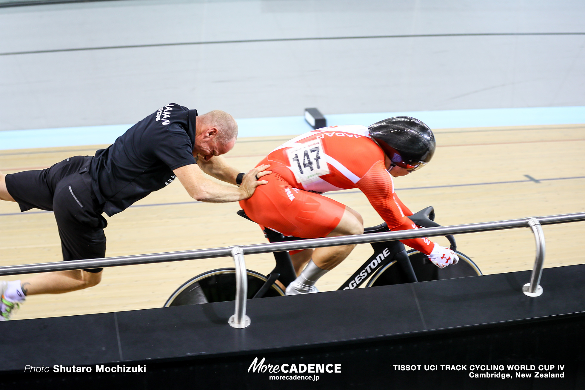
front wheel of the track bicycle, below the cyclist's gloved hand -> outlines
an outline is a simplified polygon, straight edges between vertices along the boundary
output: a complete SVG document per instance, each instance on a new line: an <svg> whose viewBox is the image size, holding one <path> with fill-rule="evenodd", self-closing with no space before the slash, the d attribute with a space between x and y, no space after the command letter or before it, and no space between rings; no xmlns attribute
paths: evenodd
<svg viewBox="0 0 585 390"><path fill-rule="evenodd" d="M422 254L416 249L410 249L407 252L408 258L410 259L412 268L414 269L414 273L417 275L419 282L482 275L479 267L472 259L459 251L456 251L456 253L457 256L459 256L459 262L457 262L457 264L452 264L445 268L439 268L432 264L425 254ZM366 287L398 285L401 283L408 283L408 279L406 273L402 271L402 267L394 260L383 268L378 269L378 271L371 276Z"/></svg>

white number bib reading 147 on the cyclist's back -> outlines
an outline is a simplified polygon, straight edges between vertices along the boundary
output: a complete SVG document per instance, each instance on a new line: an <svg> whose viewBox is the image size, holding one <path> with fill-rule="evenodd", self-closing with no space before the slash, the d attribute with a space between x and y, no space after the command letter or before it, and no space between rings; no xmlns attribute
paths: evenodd
<svg viewBox="0 0 585 390"><path fill-rule="evenodd" d="M292 146L287 150L292 172L299 183L314 182L319 176L329 175L329 167L323 158L321 141L309 141L301 146Z"/></svg>

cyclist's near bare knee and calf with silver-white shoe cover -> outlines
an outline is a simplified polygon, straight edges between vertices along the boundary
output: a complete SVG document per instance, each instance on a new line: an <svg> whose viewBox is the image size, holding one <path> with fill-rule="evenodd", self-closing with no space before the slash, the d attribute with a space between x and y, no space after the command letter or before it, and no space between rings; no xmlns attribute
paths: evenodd
<svg viewBox="0 0 585 390"><path fill-rule="evenodd" d="M339 224L327 237L339 237L343 235L362 234L364 231L362 216L349 207L345 208ZM345 260L347 255L356 245L340 245L339 247L316 248L312 252L312 259L300 273L297 279L288 285L286 294L297 295L318 292L315 288L316 281L329 270L335 268ZM307 254L299 252L295 256L295 270L301 269L302 262L307 261Z"/></svg>

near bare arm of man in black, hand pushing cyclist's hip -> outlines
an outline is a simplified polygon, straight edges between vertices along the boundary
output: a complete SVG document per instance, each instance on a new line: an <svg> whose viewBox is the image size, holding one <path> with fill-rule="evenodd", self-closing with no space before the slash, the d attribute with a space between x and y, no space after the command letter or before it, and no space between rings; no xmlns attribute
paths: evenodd
<svg viewBox="0 0 585 390"><path fill-rule="evenodd" d="M251 169L244 176L242 185L239 187L228 187L212 182L205 177L197 164L185 165L173 170L173 172L193 199L202 202L223 203L248 199L252 196L257 186L268 183L267 180L256 180L256 177L260 179L264 175L269 175L271 171L265 170L269 167L270 165L260 165ZM229 182L232 181L229 180ZM235 177L233 182L235 182Z"/></svg>

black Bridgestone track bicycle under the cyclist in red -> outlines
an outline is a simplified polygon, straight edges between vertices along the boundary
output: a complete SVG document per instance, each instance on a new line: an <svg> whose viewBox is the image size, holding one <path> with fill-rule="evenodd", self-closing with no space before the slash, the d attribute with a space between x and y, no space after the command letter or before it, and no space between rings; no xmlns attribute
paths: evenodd
<svg viewBox="0 0 585 390"><path fill-rule="evenodd" d="M241 217L252 221L244 210L238 211ZM408 218L419 227L441 226L436 223L433 207L426 207ZM304 238L280 234L270 228L264 228L264 236L270 242L304 240ZM386 223L365 228L364 234L390 231ZM406 251L400 241L372 242L374 254L364 262L356 272L350 276L338 290L366 287L395 285L400 283L415 283L426 280L463 278L465 276L481 275L479 267L462 252L457 251L455 237L445 236L449 240L450 248L459 256L459 262L438 268L429 261L425 254L410 249ZM248 291L247 299L283 296L284 290L276 283L282 283L286 288L297 275L292 266L288 252L274 252L276 267L268 274L247 269ZM223 302L235 300L236 297L235 268L219 268L201 273L183 283L167 300L164 307L197 305L200 303Z"/></svg>

